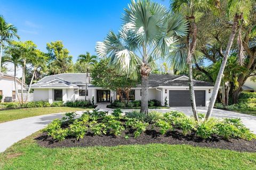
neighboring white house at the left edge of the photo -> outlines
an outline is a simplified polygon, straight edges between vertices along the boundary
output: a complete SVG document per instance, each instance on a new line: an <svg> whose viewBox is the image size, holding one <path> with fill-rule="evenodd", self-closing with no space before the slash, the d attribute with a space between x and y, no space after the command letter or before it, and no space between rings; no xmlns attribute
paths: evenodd
<svg viewBox="0 0 256 170"><path fill-rule="evenodd" d="M16 87L18 93L21 92L21 81L18 78L16 78ZM26 90L26 84L23 84L23 89ZM2 102L18 101L18 94L15 92L13 75L0 73L0 95L3 96Z"/></svg>

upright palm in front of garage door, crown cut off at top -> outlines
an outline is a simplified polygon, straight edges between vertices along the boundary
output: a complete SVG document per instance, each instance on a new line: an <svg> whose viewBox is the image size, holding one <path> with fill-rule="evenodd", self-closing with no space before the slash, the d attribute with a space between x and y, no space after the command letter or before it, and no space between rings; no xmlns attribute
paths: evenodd
<svg viewBox="0 0 256 170"><path fill-rule="evenodd" d="M188 64L189 71L189 90L190 90L190 100L192 111L196 121L199 121L196 109L196 99L193 83L193 55L196 49L196 22L195 22L195 13L199 10L203 11L209 8L208 1L201 0L173 0L171 1L171 10L174 12L181 12L186 16L187 21L189 22L189 33L187 35L186 41L186 52L178 52L175 54L181 55L182 53L187 56L186 62ZM179 57L179 56L178 56ZM185 62L185 61L183 61Z"/></svg>

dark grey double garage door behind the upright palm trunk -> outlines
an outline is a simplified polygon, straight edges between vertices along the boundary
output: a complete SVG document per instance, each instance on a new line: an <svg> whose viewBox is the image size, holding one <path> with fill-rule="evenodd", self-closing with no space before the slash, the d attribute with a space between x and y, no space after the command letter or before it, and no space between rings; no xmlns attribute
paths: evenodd
<svg viewBox="0 0 256 170"><path fill-rule="evenodd" d="M169 106L191 106L189 90L169 90ZM196 106L205 106L205 90L195 90Z"/></svg>

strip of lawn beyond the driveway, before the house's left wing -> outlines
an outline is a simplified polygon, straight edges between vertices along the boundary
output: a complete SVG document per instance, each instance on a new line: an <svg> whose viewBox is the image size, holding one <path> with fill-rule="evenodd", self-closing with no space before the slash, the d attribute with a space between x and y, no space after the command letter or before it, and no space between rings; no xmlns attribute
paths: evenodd
<svg viewBox="0 0 256 170"><path fill-rule="evenodd" d="M20 108L0 111L0 123L13 121L20 118L46 115L60 112L84 111L83 107L37 107L37 108Z"/></svg>

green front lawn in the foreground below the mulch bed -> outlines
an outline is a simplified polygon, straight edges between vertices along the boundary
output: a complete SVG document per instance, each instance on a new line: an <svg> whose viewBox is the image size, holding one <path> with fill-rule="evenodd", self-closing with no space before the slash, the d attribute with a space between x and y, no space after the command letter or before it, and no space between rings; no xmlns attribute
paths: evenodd
<svg viewBox="0 0 256 170"><path fill-rule="evenodd" d="M256 169L256 153L189 145L43 148L36 134L0 154L0 169Z"/></svg>

